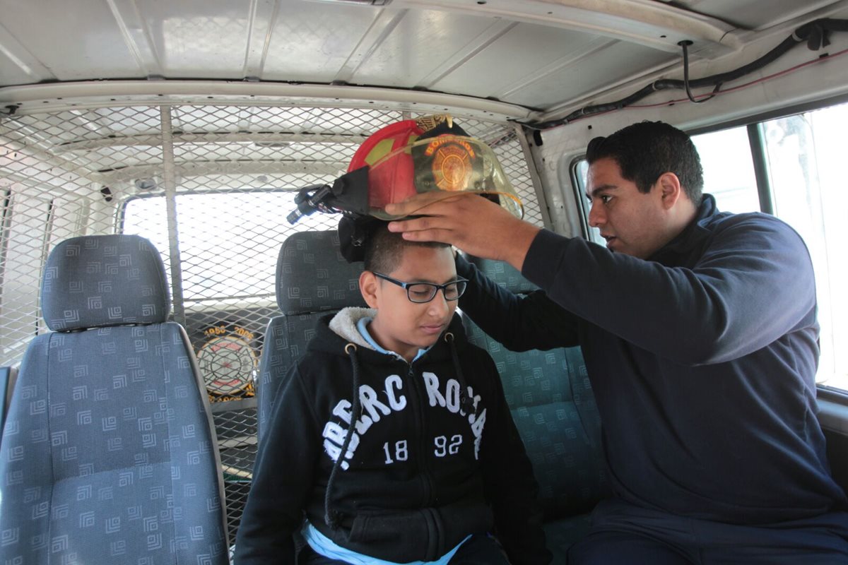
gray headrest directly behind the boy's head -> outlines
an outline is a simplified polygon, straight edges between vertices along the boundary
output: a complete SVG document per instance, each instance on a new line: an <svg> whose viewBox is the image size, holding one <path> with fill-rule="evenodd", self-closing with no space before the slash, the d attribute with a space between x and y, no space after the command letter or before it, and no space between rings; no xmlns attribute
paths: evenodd
<svg viewBox="0 0 848 565"><path fill-rule="evenodd" d="M362 263L348 263L338 231L301 231L288 236L276 261L276 303L286 315L365 306Z"/></svg>

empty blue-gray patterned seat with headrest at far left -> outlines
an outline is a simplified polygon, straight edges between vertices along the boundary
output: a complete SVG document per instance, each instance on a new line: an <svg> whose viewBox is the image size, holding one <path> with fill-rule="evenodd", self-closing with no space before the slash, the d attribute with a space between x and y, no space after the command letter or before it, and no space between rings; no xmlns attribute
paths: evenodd
<svg viewBox="0 0 848 565"><path fill-rule="evenodd" d="M21 363L0 450L2 563L226 563L223 479L197 364L159 252L61 242L53 330Z"/></svg>

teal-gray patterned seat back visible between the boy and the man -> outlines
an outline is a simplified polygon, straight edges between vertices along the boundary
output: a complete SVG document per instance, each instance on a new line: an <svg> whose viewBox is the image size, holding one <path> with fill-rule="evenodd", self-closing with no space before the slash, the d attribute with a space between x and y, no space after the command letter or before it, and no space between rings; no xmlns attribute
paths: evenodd
<svg viewBox="0 0 848 565"><path fill-rule="evenodd" d="M506 263L474 259L477 268L506 289L536 290ZM472 343L494 358L506 402L524 440L539 484L545 533L555 563L589 529L588 512L610 485L600 446L600 415L579 347L511 352L466 318Z"/></svg>

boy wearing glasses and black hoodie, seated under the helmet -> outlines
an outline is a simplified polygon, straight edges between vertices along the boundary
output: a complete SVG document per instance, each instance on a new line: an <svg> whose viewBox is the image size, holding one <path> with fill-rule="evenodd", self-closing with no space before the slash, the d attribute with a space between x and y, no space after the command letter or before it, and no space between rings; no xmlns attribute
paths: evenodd
<svg viewBox="0 0 848 565"><path fill-rule="evenodd" d="M370 308L321 319L282 384L237 565L550 562L494 363L454 316L465 285L449 246L371 231Z"/></svg>

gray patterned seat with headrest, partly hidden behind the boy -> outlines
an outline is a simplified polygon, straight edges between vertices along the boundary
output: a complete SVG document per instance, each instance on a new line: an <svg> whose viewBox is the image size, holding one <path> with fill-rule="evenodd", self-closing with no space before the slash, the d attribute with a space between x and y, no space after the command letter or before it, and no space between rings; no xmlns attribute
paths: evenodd
<svg viewBox="0 0 848 565"><path fill-rule="evenodd" d="M362 263L348 263L342 257L336 230L302 231L282 243L276 263L276 302L282 315L268 323L259 357L256 427L260 446L276 391L306 351L315 322L343 307L365 307L361 273Z"/></svg>

